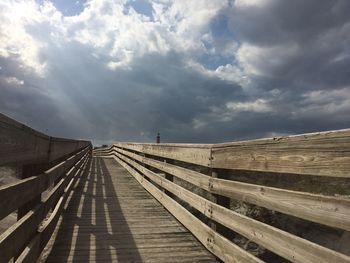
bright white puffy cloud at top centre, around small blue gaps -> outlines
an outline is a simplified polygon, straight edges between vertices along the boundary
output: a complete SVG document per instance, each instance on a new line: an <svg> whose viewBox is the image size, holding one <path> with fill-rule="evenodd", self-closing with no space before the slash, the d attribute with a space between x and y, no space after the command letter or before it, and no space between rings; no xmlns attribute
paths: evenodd
<svg viewBox="0 0 350 263"><path fill-rule="evenodd" d="M114 69L149 53L203 52L210 20L227 2L154 1L153 21L132 8L126 11L123 4L90 1L79 15L64 19L69 38L98 49Z"/></svg>

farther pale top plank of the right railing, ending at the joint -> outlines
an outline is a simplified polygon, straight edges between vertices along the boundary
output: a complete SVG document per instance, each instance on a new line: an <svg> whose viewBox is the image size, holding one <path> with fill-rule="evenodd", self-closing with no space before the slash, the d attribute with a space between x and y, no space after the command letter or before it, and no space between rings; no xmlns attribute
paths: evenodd
<svg viewBox="0 0 350 263"><path fill-rule="evenodd" d="M116 147L203 166L210 166L211 144L115 143Z"/></svg>

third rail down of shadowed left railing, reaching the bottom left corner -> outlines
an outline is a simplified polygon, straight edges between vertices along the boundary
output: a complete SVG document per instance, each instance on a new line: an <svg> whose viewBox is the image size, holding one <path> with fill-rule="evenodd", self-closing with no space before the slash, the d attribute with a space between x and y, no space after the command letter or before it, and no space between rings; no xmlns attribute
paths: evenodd
<svg viewBox="0 0 350 263"><path fill-rule="evenodd" d="M71 181L72 177L75 178L83 172L88 157L89 153L85 152L79 160L76 160L75 164L61 178L57 185L50 190L48 196L40 204L1 234L0 262L8 262L12 257L19 255L21 249L30 242L33 236L35 238L39 225L46 218L51 208L59 204L58 201L65 193L66 185ZM20 195L20 193L17 193L17 195ZM42 249L43 247L41 246L40 248ZM36 255L36 257L38 256L39 254Z"/></svg>

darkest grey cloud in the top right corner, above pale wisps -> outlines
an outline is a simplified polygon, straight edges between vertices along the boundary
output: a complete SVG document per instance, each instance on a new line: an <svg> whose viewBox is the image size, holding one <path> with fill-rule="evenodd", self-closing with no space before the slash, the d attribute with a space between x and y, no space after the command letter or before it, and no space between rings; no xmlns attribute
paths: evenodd
<svg viewBox="0 0 350 263"><path fill-rule="evenodd" d="M328 30L341 30L349 22L346 0L262 1L259 5L233 7L230 27L240 40L259 45L306 43Z"/></svg>

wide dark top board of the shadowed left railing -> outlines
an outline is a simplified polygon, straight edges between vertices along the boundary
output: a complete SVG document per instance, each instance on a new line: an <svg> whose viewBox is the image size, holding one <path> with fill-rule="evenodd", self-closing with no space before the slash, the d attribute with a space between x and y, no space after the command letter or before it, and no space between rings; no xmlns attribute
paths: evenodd
<svg viewBox="0 0 350 263"><path fill-rule="evenodd" d="M0 165L52 162L89 145L50 137L0 113Z"/></svg>

